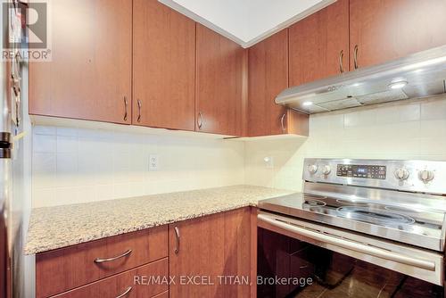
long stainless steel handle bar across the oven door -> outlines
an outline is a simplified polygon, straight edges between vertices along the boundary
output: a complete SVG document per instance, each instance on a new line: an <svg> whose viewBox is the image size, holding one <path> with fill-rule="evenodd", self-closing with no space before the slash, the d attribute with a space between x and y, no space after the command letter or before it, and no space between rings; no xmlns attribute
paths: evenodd
<svg viewBox="0 0 446 298"><path fill-rule="evenodd" d="M308 228L297 227L291 223L286 223L284 221L277 220L274 217L265 214L259 214L257 218L260 221L263 221L276 228L285 229L288 232L292 232L294 234L298 234L301 236L306 236L310 239L320 241L322 243L332 244L338 247L349 249L354 252L365 253L384 260L395 261L401 264L406 264L420 269L435 271L435 263L433 261L420 260L414 257L402 255L400 253L387 251L374 246L369 246L367 244L359 244L353 241L345 240L343 238L329 236L327 234L321 234L318 233L317 231L310 230Z"/></svg>

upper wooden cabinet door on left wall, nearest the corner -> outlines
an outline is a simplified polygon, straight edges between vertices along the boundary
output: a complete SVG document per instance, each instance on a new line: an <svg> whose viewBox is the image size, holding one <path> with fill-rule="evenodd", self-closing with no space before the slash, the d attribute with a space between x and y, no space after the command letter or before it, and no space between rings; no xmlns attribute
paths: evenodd
<svg viewBox="0 0 446 298"><path fill-rule="evenodd" d="M247 93L245 50L197 24L196 59L196 130L241 136Z"/></svg>

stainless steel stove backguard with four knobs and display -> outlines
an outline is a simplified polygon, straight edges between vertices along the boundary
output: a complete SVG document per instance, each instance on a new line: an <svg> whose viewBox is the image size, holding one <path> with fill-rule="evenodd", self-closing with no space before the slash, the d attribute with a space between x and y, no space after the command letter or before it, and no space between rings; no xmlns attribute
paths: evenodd
<svg viewBox="0 0 446 298"><path fill-rule="evenodd" d="M446 161L306 158L303 180L446 195Z"/></svg>

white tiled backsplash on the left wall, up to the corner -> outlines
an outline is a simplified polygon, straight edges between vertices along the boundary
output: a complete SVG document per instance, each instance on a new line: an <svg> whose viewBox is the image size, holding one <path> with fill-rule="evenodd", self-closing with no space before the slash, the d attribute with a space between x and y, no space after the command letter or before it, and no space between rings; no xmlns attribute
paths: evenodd
<svg viewBox="0 0 446 298"><path fill-rule="evenodd" d="M149 171L158 154L159 170ZM33 208L244 183L244 144L37 126Z"/></svg>

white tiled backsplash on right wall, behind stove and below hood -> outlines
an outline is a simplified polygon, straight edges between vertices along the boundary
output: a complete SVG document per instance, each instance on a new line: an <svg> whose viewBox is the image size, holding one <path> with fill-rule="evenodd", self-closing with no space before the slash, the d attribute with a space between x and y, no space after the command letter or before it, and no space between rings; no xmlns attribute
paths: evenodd
<svg viewBox="0 0 446 298"><path fill-rule="evenodd" d="M446 96L315 114L308 139L246 143L245 183L300 191L305 157L446 161Z"/></svg>

